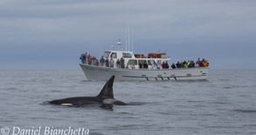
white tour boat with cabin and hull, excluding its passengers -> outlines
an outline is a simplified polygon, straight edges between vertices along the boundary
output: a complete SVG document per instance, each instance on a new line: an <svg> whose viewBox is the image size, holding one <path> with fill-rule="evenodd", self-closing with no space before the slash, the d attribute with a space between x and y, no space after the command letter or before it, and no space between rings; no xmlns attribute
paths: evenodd
<svg viewBox="0 0 256 135"><path fill-rule="evenodd" d="M113 67L106 64L82 64L80 67L84 71L88 80L107 80L115 76L116 80L123 81L169 81L169 80L205 80L207 79L209 67L176 68L163 69L163 62L170 61L166 53L149 53L148 57L135 55L133 51L127 51L127 47L120 50L121 43L117 43L119 49L105 51L104 58L114 60ZM123 68L116 64L117 59L124 59ZM140 63L147 63L148 68L140 68ZM124 68L125 67L125 68Z"/></svg>

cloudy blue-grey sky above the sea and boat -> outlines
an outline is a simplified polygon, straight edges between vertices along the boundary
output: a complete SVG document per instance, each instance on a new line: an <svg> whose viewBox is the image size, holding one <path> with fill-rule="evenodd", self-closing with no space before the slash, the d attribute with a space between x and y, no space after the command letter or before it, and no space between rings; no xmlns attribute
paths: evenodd
<svg viewBox="0 0 256 135"><path fill-rule="evenodd" d="M255 0L1 0L0 70L80 70L81 53L125 43L127 24L135 53L256 68Z"/></svg>

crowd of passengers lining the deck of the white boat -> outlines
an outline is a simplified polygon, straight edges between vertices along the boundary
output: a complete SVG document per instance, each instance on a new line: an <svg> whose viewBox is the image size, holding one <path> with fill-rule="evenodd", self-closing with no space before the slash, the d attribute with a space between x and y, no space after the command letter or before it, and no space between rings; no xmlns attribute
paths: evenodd
<svg viewBox="0 0 256 135"><path fill-rule="evenodd" d="M100 61L96 58L96 57L92 57L90 54L87 55L87 52L84 54L81 54L80 56L80 60L82 62L82 64L93 64L93 65L99 65L100 66L104 66L104 64L106 65L106 67L112 67L114 68L114 59L111 57L110 60L108 60L108 58L104 58L103 56L100 58ZM194 67L208 67L209 63L207 60L205 60L203 58L203 60L200 60L200 58L197 58L197 63L195 63L193 60L188 60L188 62L186 60L184 60L183 62L177 62L176 64L171 64L171 66L169 66L168 62L164 62L161 63L161 60L157 61L156 64L156 69L169 69L170 67L172 69L176 69L176 68L194 68ZM116 67L118 68L125 68L125 62L123 57L121 57L121 59L117 59L116 60ZM128 66L126 67L128 68ZM131 66L132 69L135 69L135 63L132 64ZM144 61L144 63L139 62L139 68L140 69L149 69L149 64L147 63L147 61Z"/></svg>

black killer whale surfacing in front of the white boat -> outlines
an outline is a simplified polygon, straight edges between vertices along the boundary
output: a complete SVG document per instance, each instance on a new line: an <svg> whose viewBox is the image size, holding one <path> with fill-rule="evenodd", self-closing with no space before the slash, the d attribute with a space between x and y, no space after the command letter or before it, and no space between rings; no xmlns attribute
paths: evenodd
<svg viewBox="0 0 256 135"><path fill-rule="evenodd" d="M114 99L113 94L114 76L108 79L103 86L99 95L96 97L74 97L52 100L51 105L66 105L66 106L80 106L80 105L101 105L104 108L112 108L113 105L127 105L119 100Z"/></svg>

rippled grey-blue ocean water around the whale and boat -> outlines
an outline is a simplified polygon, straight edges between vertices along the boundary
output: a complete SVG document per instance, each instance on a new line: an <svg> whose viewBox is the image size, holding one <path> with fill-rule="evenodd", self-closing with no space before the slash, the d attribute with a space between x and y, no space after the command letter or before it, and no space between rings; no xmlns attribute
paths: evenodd
<svg viewBox="0 0 256 135"><path fill-rule="evenodd" d="M82 71L0 71L0 77L3 135L21 135L17 127L41 127L40 135L45 127L92 135L256 134L256 70L210 70L206 81L115 81L114 98L128 105L113 110L46 103L98 95L106 82L86 81Z"/></svg>

